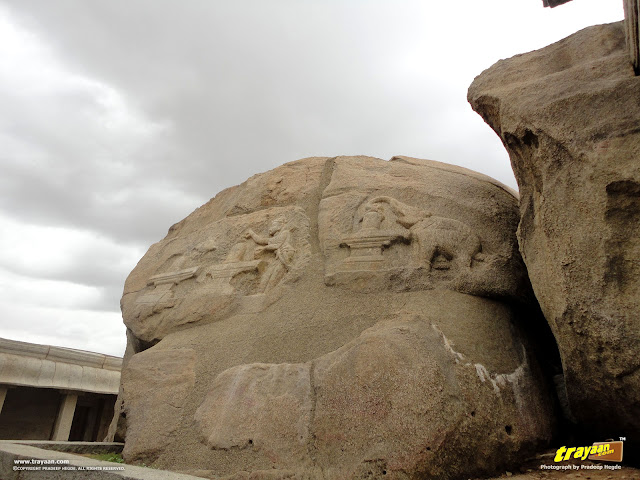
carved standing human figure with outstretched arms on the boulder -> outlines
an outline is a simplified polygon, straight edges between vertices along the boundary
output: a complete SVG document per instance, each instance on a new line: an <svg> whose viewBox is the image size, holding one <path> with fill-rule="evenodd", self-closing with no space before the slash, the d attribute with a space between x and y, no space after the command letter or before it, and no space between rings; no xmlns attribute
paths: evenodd
<svg viewBox="0 0 640 480"><path fill-rule="evenodd" d="M275 287L291 268L296 250L291 243L291 231L285 226L286 219L280 216L269 225L268 237L258 235L251 229L245 234L245 238L251 238L258 245L262 245L255 249L255 258L262 256L265 252L273 252L275 254L275 259L269 262L262 274L258 287L260 292L266 292Z"/></svg>

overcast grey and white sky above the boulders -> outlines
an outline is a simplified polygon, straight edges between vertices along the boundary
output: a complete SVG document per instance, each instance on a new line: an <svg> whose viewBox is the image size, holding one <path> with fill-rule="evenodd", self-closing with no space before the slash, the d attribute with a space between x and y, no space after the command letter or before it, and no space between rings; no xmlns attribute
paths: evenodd
<svg viewBox="0 0 640 480"><path fill-rule="evenodd" d="M515 188L469 84L622 18L622 0L0 0L0 336L122 355L147 248L291 160L401 154Z"/></svg>

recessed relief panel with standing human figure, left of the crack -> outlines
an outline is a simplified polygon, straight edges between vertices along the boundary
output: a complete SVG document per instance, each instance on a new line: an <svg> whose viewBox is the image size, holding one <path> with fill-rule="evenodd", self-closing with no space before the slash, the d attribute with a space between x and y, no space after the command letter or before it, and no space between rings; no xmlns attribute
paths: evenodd
<svg viewBox="0 0 640 480"><path fill-rule="evenodd" d="M297 210L288 215L267 210L260 215L234 217L233 222L221 226L217 239L207 238L185 254L174 255L167 271L150 277L147 288L136 299L140 313L149 316L173 308L192 291L193 295L207 298L269 293L305 258L308 219ZM225 247L229 238L235 238L235 243ZM252 281L238 290L233 280L241 274L249 275ZM187 280L192 281L190 287L182 288Z"/></svg>

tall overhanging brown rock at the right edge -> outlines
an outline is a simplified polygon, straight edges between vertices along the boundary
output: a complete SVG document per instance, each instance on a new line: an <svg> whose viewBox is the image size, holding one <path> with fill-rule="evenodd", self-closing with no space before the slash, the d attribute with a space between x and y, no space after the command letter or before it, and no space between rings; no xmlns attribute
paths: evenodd
<svg viewBox="0 0 640 480"><path fill-rule="evenodd" d="M501 60L469 101L520 187L520 250L594 434L640 433L640 77L621 23ZM603 437L605 438L605 437Z"/></svg>

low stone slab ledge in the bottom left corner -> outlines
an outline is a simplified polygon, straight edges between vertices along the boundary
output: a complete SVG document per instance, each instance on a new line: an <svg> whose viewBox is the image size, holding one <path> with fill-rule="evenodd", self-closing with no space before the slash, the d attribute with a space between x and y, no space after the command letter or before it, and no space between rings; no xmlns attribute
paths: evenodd
<svg viewBox="0 0 640 480"><path fill-rule="evenodd" d="M42 443L42 442L40 442ZM50 442L55 443L55 442ZM82 443L82 442L76 442ZM14 470L14 467L37 467L38 465L18 465L16 460L68 460L65 464L47 464L47 467L72 467L73 470ZM33 463L33 462L32 462ZM40 465L42 467L44 465ZM91 467L91 469L90 469ZM99 467L99 469L95 469ZM123 470L107 470L123 468ZM0 443L0 478L3 480L197 480L201 477L183 475L175 472L135 467L122 463L92 460L70 453L44 450L29 445Z"/></svg>

